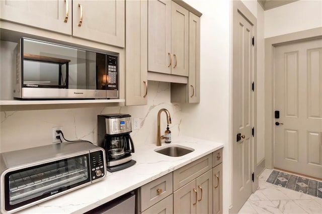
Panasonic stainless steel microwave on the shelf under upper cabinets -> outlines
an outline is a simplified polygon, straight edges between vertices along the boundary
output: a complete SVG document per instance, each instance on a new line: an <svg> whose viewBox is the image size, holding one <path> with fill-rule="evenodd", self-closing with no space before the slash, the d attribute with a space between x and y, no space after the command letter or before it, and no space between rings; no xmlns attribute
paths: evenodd
<svg viewBox="0 0 322 214"><path fill-rule="evenodd" d="M16 99L118 98L118 56L21 38Z"/></svg>

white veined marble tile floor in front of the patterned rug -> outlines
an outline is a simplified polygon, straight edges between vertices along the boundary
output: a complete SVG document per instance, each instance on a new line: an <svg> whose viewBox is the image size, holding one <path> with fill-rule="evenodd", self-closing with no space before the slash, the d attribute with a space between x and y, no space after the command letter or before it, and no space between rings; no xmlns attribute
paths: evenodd
<svg viewBox="0 0 322 214"><path fill-rule="evenodd" d="M259 176L259 188L238 213L316 213L322 214L322 198L266 182L272 172L265 169Z"/></svg>

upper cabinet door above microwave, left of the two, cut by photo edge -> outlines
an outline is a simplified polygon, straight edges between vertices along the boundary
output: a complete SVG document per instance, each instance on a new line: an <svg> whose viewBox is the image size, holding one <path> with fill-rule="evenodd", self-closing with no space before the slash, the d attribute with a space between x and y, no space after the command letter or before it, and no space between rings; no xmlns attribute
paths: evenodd
<svg viewBox="0 0 322 214"><path fill-rule="evenodd" d="M0 1L0 18L71 35L71 0Z"/></svg>

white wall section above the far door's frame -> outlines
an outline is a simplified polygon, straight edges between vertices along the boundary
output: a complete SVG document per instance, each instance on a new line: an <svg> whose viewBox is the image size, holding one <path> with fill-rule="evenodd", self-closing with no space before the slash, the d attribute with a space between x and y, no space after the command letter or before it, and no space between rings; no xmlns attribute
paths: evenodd
<svg viewBox="0 0 322 214"><path fill-rule="evenodd" d="M265 11L265 38L322 27L322 1L300 0Z"/></svg>

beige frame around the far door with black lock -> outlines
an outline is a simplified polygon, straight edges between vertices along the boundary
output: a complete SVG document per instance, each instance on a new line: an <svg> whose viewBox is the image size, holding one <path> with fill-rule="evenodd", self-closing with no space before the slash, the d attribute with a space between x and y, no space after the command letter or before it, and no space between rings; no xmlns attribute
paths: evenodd
<svg viewBox="0 0 322 214"><path fill-rule="evenodd" d="M274 167L274 48L277 45L322 38L322 27L265 39L265 167Z"/></svg>

